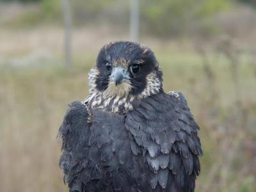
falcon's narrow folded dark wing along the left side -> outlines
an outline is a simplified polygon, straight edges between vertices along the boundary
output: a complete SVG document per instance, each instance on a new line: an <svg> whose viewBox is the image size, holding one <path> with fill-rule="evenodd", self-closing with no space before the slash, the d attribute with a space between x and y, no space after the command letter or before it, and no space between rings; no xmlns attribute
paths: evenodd
<svg viewBox="0 0 256 192"><path fill-rule="evenodd" d="M65 175L65 182L73 191L81 191L81 184L79 184L79 180L76 180L77 172L80 172L83 166L87 166L88 157L97 156L95 148L92 148L88 154L89 117L88 108L81 102L74 101L68 105L67 113L59 130L63 150L60 167Z"/></svg>

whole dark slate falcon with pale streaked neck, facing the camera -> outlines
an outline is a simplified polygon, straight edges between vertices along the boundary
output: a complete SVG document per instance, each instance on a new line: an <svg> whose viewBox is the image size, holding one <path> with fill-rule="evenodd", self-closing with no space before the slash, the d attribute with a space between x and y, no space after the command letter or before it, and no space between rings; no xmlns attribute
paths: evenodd
<svg viewBox="0 0 256 192"><path fill-rule="evenodd" d="M59 131L69 190L194 191L199 127L182 93L163 91L154 52L104 45L88 81L88 97L69 104Z"/></svg>

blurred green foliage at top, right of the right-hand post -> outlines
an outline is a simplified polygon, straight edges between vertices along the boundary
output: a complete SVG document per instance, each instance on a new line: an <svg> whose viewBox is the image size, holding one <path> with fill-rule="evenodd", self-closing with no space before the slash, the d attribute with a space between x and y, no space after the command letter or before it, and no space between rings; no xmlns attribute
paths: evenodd
<svg viewBox="0 0 256 192"><path fill-rule="evenodd" d="M157 35L188 34L196 28L207 30L204 20L229 6L230 2L223 0L143 0L143 26Z"/></svg>

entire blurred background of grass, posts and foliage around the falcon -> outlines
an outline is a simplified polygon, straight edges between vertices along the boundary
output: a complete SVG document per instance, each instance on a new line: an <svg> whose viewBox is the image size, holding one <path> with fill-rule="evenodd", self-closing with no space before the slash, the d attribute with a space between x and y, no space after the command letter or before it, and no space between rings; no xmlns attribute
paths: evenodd
<svg viewBox="0 0 256 192"><path fill-rule="evenodd" d="M56 138L103 44L138 40L200 125L196 191L256 191L254 0L0 1L0 191L67 191Z"/></svg>

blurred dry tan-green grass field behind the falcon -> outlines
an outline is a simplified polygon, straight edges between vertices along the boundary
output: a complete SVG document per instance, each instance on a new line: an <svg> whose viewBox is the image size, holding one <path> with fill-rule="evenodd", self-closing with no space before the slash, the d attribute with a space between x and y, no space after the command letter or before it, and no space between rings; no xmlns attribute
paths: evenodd
<svg viewBox="0 0 256 192"><path fill-rule="evenodd" d="M60 29L0 31L0 55L5 56L0 61L0 191L67 191L56 135L65 104L87 95L86 73L99 47L126 38L110 35L92 42L106 31L75 31L70 71L61 65ZM180 42L143 41L156 51L164 89L184 92L201 127L205 156L197 191L255 191L256 63L249 51L237 54L230 40L211 45L211 51L200 44L193 51L175 46ZM50 54L31 56L42 47ZM17 61L28 66L10 67Z"/></svg>

